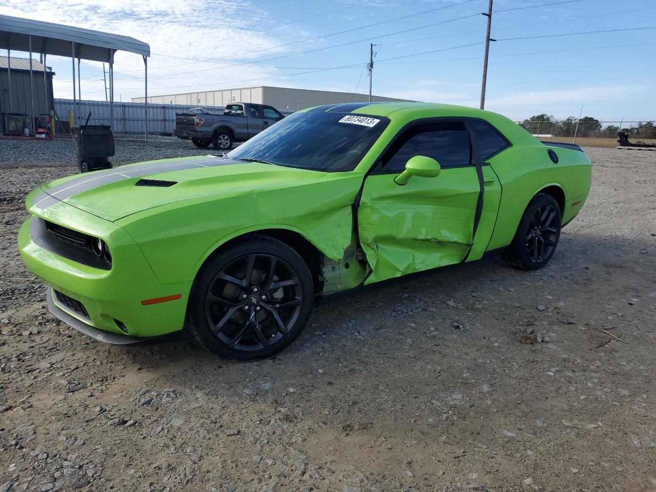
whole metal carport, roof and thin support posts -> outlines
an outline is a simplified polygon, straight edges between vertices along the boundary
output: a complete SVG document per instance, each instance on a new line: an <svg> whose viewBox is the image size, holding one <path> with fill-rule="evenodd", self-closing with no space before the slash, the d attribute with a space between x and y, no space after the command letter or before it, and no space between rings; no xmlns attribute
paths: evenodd
<svg viewBox="0 0 656 492"><path fill-rule="evenodd" d="M148 139L148 56L150 46L133 37L121 36L102 31L74 28L63 24L52 24L40 20L23 19L0 15L0 49L6 49L9 58L9 79L11 79L11 50L30 53L30 92L33 92L32 53L43 54L43 65L48 54L72 58L73 66L73 121L75 121L75 58L77 58L77 94L81 96L79 66L80 60L107 62L110 66L110 125L114 123L114 53L128 51L140 54L144 59L146 83L146 123L144 138ZM11 83L9 85L11 99ZM30 117L35 117L32 104Z"/></svg>

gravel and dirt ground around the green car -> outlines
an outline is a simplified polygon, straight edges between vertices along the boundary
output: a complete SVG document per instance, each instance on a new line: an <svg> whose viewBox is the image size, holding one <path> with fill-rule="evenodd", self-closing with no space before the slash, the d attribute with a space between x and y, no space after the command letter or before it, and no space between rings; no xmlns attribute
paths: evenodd
<svg viewBox="0 0 656 492"><path fill-rule="evenodd" d="M52 318L16 233L72 167L0 163L0 491L656 490L656 153L586 152L543 270L354 291L255 363Z"/></svg>

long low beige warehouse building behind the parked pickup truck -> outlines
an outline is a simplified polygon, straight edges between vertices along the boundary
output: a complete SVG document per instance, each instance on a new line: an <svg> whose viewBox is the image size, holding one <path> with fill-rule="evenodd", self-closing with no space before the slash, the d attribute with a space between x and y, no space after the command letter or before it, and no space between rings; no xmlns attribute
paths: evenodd
<svg viewBox="0 0 656 492"><path fill-rule="evenodd" d="M167 96L149 96L153 104L186 104L187 106L226 106L231 102L253 102L268 104L282 112L293 112L303 108L332 104L338 102L362 102L369 94L356 92L313 91L311 89L293 89L291 87L243 87L222 91L186 92ZM383 96L371 96L372 101L407 101ZM144 102L144 98L133 98L132 102Z"/></svg>

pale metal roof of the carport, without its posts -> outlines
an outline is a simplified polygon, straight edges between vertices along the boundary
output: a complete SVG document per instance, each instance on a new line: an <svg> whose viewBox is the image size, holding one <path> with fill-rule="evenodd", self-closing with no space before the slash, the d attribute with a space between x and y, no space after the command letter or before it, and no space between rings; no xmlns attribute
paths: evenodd
<svg viewBox="0 0 656 492"><path fill-rule="evenodd" d="M133 37L0 15L0 49L30 51L29 35L32 51L37 53L70 58L71 43L75 43L75 58L83 60L109 62L112 50L150 56L150 46Z"/></svg>

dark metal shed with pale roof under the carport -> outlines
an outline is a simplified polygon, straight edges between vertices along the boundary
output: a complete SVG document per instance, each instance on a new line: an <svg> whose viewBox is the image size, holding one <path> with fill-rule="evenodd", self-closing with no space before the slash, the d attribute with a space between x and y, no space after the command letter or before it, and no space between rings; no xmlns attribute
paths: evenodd
<svg viewBox="0 0 656 492"><path fill-rule="evenodd" d="M10 69L10 70L9 70ZM11 82L9 76L11 75ZM34 112L48 113L54 106L52 98L52 75L49 67L32 60ZM45 75L45 77L44 77ZM9 86L11 85L12 91ZM11 98L10 98L11 96ZM5 131L5 116L12 113L27 115L31 111L30 60L0 56L0 133Z"/></svg>

